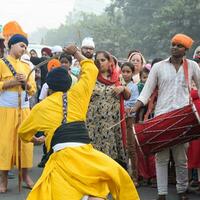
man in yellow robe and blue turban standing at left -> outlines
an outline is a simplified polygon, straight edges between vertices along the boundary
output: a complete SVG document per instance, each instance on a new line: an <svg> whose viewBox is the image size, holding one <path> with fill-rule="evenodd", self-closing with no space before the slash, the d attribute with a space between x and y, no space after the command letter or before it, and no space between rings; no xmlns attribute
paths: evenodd
<svg viewBox="0 0 200 200"><path fill-rule="evenodd" d="M28 64L21 62L28 40L20 34L13 35L8 41L9 54L0 59L0 193L7 191L8 171L14 165L19 166L19 150L21 149L20 166L22 178L31 188L33 182L28 176L28 168L32 167L33 144L19 142L17 129L29 114L29 102L25 101L23 85L30 72ZM28 94L33 95L36 85L33 78L27 85ZM20 147L18 147L20 145Z"/></svg>

